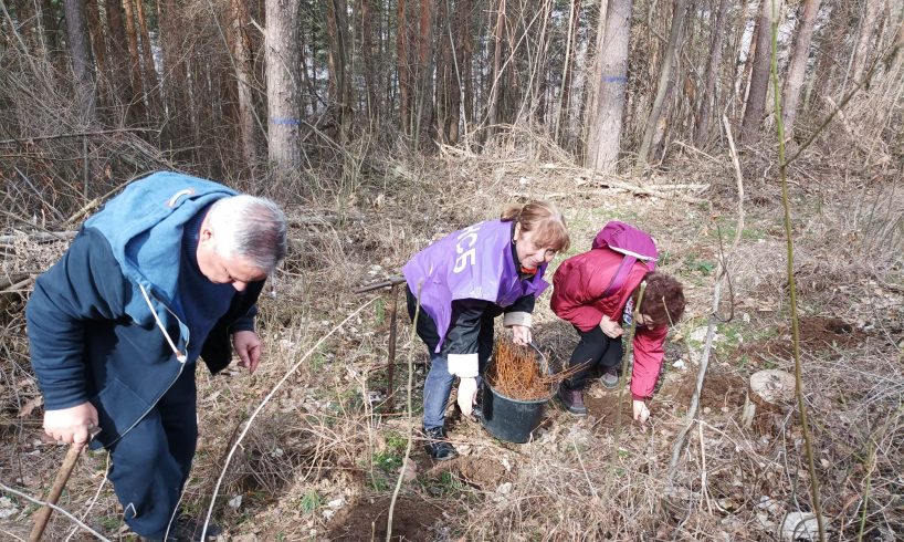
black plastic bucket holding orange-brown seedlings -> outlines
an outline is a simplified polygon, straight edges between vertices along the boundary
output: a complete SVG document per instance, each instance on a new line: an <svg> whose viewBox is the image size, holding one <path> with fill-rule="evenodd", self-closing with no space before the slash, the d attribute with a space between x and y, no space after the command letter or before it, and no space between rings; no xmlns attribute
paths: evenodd
<svg viewBox="0 0 904 542"><path fill-rule="evenodd" d="M543 421L546 402L550 397L532 400L513 399L496 392L490 383L484 381L481 405L483 426L500 440L527 442L530 440L530 434Z"/></svg>

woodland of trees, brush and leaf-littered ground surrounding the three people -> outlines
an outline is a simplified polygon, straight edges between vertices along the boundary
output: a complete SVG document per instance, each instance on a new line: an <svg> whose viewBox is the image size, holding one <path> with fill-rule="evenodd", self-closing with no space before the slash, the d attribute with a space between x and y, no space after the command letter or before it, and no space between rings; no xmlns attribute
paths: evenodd
<svg viewBox="0 0 904 542"><path fill-rule="evenodd" d="M214 519L234 540L386 538L399 477L407 540L790 540L808 535L782 533L789 514L817 508L827 538L904 532L900 0L0 0L0 29L6 488L40 498L64 454L40 437L34 277L125 184L177 169L292 220L262 302L267 364L199 372L185 502L203 514L222 472ZM687 285L653 423L622 430L593 388L592 416L550 406L535 442L459 420L460 460L416 441L407 461L422 346L401 315L390 383L393 296L353 290L527 198L564 209L567 256L629 220ZM796 365L789 238L812 435L799 408L738 421L750 373ZM538 322L560 363L574 333L545 306ZM105 460L80 463L61 505L127 539ZM35 505L3 494L0 528L24 538Z"/></svg>

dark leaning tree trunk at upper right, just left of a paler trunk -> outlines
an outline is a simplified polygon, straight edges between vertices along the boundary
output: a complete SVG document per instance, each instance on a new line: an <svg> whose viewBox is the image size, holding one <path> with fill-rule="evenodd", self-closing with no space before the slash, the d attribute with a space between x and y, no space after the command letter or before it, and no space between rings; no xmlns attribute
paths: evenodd
<svg viewBox="0 0 904 542"><path fill-rule="evenodd" d="M757 20L756 56L750 69L750 90L744 108L744 122L740 125L740 138L747 145L759 140L759 127L766 112L766 96L769 90L769 61L772 51L772 4L775 11L781 10L780 0L761 0ZM777 14L775 17L778 17Z"/></svg>

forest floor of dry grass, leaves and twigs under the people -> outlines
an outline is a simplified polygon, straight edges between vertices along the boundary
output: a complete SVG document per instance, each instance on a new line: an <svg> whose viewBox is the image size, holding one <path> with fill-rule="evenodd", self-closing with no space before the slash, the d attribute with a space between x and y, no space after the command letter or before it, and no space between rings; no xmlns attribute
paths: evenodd
<svg viewBox="0 0 904 542"><path fill-rule="evenodd" d="M726 254L730 288L722 290L701 409L674 468L719 258L736 231L737 185L727 158L688 156L644 179L650 196L626 188L637 179L593 178L514 149L496 158L444 154L417 166L387 161L367 180L290 208L292 252L272 280L273 295L261 302L260 369L197 373L201 436L185 509L203 517L224 472L213 507L224 540L385 540L400 480L392 540L808 540L802 530L781 532L784 522L796 523L795 513L811 511L799 415L769 416L750 428L740 421L750 374L793 372L774 173L745 171L744 226ZM842 179L830 167L801 166L790 180L803 387L829 538L900 540L904 197L891 181ZM563 209L572 239L566 257L587 250L607 220L622 219L656 238L660 270L684 283L687 313L670 334L652 418L632 423L626 406L617 427L618 393L595 384L589 416L572 417L550 402L534 439L514 445L450 408L461 457L434 463L418 434L427 355L411 338L403 296L388 389L392 298L389 290L354 290L397 274L429 241L525 197ZM23 239L3 264L8 273L40 270L64 248ZM577 335L553 315L548 299L537 303L534 335L560 365ZM0 481L41 498L65 449L42 438L22 303L7 304ZM411 462L402 469L411 427ZM105 481L106 462L105 452L87 454L60 505L109 540L130 540ZM0 497L0 538L25 540L35 509L21 497ZM94 539L60 513L48 532L51 540L72 532L72 540Z"/></svg>

